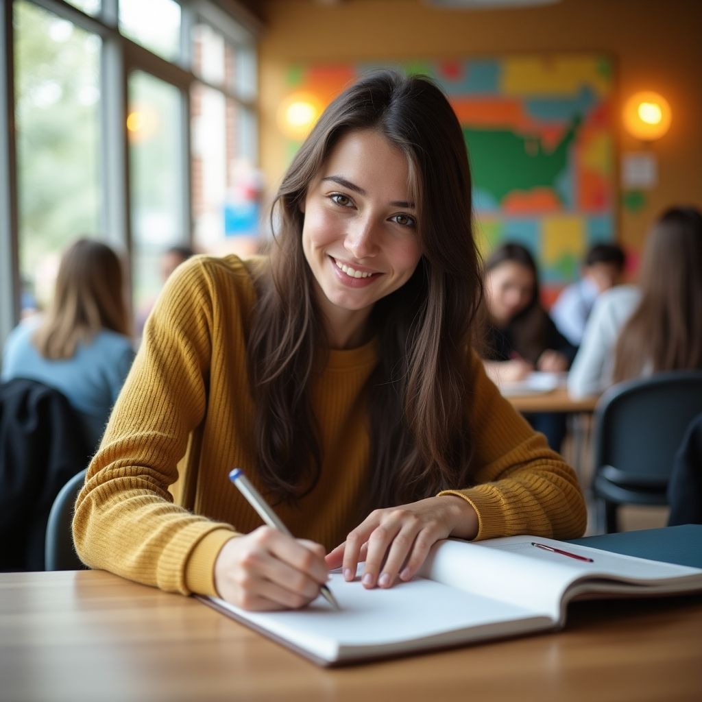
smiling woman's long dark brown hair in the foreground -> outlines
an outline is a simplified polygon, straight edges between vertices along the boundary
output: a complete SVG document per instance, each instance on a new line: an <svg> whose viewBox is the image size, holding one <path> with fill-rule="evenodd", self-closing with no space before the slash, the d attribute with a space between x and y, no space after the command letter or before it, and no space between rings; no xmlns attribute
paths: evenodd
<svg viewBox="0 0 702 702"><path fill-rule="evenodd" d="M329 105L274 202L271 264L258 279L248 357L261 474L286 500L306 494L319 479L322 456L308 388L329 347L303 253L300 204L340 138L362 129L377 130L407 158L422 250L411 279L371 313L380 351L369 388L366 507L469 482L467 352L482 282L463 133L429 79L383 71Z"/></svg>

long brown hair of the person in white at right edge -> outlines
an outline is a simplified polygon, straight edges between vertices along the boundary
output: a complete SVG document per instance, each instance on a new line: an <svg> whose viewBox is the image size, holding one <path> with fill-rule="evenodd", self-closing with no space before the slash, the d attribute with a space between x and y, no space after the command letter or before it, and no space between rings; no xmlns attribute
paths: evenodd
<svg viewBox="0 0 702 702"><path fill-rule="evenodd" d="M672 207L651 227L644 249L641 300L623 326L615 383L654 373L702 368L702 213Z"/></svg>

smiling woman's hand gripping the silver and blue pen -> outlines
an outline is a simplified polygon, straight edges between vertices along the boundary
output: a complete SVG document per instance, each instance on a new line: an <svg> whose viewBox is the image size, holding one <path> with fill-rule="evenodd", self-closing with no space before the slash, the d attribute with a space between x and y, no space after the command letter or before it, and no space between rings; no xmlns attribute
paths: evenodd
<svg viewBox="0 0 702 702"><path fill-rule="evenodd" d="M219 596L242 609L299 609L329 579L324 546L271 527L231 538L215 562Z"/></svg>

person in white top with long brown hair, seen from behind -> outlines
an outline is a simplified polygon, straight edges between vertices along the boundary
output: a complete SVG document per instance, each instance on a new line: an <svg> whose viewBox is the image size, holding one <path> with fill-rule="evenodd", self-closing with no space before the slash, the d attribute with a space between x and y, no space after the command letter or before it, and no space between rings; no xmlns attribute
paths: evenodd
<svg viewBox="0 0 702 702"><path fill-rule="evenodd" d="M672 207L644 246L640 285L597 298L568 377L574 397L660 371L702 368L702 213Z"/></svg>

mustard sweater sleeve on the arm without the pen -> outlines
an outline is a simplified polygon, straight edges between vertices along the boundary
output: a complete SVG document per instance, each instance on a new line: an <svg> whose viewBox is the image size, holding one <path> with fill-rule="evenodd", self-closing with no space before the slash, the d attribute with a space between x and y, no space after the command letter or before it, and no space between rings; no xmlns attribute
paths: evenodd
<svg viewBox="0 0 702 702"><path fill-rule="evenodd" d="M574 470L502 397L477 357L470 366L475 486L439 494L461 496L472 504L477 539L582 536L587 512Z"/></svg>

